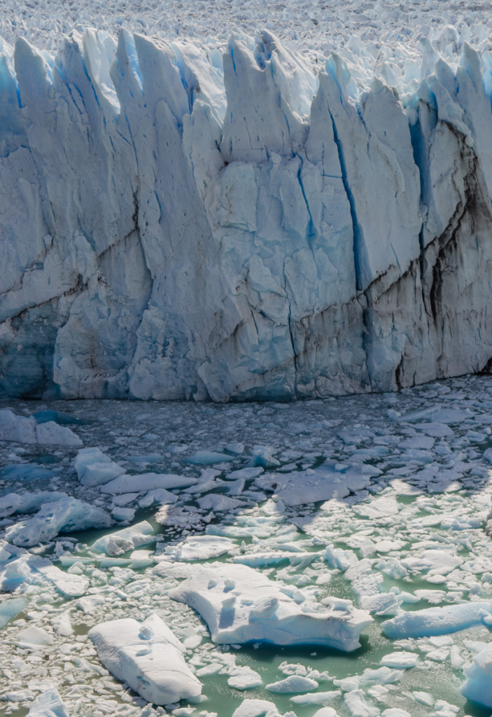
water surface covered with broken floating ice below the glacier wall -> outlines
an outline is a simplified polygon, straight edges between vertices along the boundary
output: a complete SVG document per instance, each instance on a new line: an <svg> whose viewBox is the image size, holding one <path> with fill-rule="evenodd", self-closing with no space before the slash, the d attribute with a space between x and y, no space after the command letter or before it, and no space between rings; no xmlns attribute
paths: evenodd
<svg viewBox="0 0 492 717"><path fill-rule="evenodd" d="M488 716L491 409L4 402L1 714Z"/></svg>

